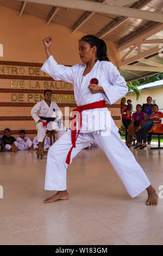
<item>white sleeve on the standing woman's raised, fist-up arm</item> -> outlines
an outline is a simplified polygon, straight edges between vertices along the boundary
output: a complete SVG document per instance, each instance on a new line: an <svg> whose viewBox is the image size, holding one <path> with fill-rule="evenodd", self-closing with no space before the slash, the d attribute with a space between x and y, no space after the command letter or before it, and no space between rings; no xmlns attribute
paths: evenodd
<svg viewBox="0 0 163 256"><path fill-rule="evenodd" d="M55 81L65 81L68 83L74 83L77 65L71 67L59 65L51 55L42 65L41 70L49 76L53 77Z"/></svg>

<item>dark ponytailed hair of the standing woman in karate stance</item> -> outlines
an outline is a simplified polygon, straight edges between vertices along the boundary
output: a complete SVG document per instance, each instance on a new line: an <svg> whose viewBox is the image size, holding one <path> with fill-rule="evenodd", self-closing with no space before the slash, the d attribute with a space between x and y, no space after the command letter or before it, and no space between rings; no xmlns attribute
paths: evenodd
<svg viewBox="0 0 163 256"><path fill-rule="evenodd" d="M97 47L97 59L100 61L106 60L107 62L109 62L109 59L107 57L107 48L106 48L106 44L105 44L104 40L97 38L97 36L95 36L95 35L85 35L79 41L87 42L91 46L91 48L93 46L96 46Z"/></svg>

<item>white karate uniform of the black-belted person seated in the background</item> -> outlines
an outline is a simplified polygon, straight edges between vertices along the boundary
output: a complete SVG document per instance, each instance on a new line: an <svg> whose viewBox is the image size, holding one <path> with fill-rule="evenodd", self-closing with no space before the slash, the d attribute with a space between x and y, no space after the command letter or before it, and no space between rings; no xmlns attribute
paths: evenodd
<svg viewBox="0 0 163 256"><path fill-rule="evenodd" d="M54 111L55 109L55 111ZM32 108L31 115L35 122L40 120L39 116L37 115L37 112L39 112L39 115L41 117L57 117L56 120L59 121L59 124L61 123L61 110L58 107L57 103L54 101L51 101L51 106L49 107L45 100L39 101L36 103L36 105ZM58 118L59 116L59 118ZM46 122L46 120L42 120ZM60 137L65 132L65 127L63 125L59 125L56 121L50 121L47 126L43 127L42 122L36 124L36 130L37 130L37 139L39 142L43 142L43 138L46 135L46 130L52 131L56 130L58 132L58 137Z"/></svg>

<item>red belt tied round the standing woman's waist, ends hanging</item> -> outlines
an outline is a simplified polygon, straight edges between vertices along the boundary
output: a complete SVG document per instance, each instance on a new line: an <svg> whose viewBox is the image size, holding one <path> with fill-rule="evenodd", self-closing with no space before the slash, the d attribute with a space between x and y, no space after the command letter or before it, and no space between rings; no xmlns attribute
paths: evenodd
<svg viewBox="0 0 163 256"><path fill-rule="evenodd" d="M73 111L77 111L79 112L79 118L78 118L78 133L77 133L77 126L76 126L76 122L74 123L74 129L71 130L71 141L72 141L72 147L70 149L70 151L68 152L67 158L66 158L66 163L70 164L70 158L71 158L71 151L73 148L76 148L76 141L80 132L80 127L82 126L82 115L81 112L83 110L87 110L87 109L94 109L94 108L103 108L106 107L105 101L96 101L90 104L86 104L83 106L78 106L77 108L73 109ZM72 117L72 120L76 118L76 115L74 115L74 117Z"/></svg>

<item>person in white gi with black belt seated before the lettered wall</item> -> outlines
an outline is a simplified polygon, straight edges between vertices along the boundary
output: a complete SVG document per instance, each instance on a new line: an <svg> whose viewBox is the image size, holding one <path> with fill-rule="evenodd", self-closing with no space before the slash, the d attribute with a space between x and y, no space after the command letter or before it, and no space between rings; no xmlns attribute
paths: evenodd
<svg viewBox="0 0 163 256"><path fill-rule="evenodd" d="M31 111L31 115L36 122L39 154L43 154L42 142L47 130L57 131L58 138L65 132L65 127L61 124L61 110L57 103L52 101L52 91L47 89L43 94L44 100L37 102ZM37 115L37 112L39 112L39 115Z"/></svg>

